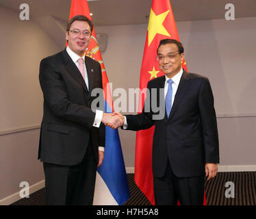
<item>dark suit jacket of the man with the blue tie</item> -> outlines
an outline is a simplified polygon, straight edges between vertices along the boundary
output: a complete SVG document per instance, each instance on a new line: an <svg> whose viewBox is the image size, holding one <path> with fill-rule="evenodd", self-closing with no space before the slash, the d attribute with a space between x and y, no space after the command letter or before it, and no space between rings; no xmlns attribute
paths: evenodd
<svg viewBox="0 0 256 219"><path fill-rule="evenodd" d="M165 77L149 81L152 88L164 88ZM153 95L146 96L146 103L153 101ZM164 92L157 95L164 99ZM162 100L163 101L163 100ZM164 103L164 102L163 102ZM162 177L169 159L170 166L177 177L196 177L204 175L205 163L219 162L218 131L214 97L209 80L201 75L183 70L181 81L170 116L153 120L157 114L151 109L142 114L127 116L127 129L138 131L155 125L153 136L153 175Z"/></svg>

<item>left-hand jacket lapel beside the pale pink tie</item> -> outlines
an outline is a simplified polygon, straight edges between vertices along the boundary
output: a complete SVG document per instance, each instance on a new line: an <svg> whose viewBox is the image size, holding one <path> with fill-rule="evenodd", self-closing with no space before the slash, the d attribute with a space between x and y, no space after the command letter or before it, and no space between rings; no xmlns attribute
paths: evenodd
<svg viewBox="0 0 256 219"><path fill-rule="evenodd" d="M64 57L64 66L66 66L66 70L68 73L84 88L84 90L88 93L88 89L86 87L86 82L84 78L81 76L81 73L71 57L66 52L66 49L62 51L62 56Z"/></svg>

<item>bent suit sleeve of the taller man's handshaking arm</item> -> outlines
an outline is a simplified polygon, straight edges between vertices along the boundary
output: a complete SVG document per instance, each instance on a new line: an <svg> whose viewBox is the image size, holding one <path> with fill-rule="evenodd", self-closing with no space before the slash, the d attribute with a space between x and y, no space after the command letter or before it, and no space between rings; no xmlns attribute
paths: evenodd
<svg viewBox="0 0 256 219"><path fill-rule="evenodd" d="M40 63L39 80L44 101L56 116L91 128L95 113L90 107L73 103L68 98L62 75L51 62L52 60L44 59Z"/></svg>

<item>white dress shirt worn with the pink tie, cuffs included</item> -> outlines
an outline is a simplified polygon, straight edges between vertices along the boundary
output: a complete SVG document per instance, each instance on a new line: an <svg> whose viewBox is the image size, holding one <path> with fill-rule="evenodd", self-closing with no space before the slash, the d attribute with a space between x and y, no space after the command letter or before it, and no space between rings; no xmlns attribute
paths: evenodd
<svg viewBox="0 0 256 219"><path fill-rule="evenodd" d="M74 53L69 47L66 47L66 52L67 52L68 55L71 57L71 60L75 63L75 65L77 66L77 68L78 68L78 60L79 60L80 58L82 58L83 60L85 59L85 55L84 55L83 57L80 57L79 55L77 55L76 53ZM85 62L85 60L84 60L84 70L85 70L85 73L86 73L85 82L86 82L86 86L87 86L87 88L88 88L88 90L89 90L89 81L88 81L88 74L87 74L86 62ZM96 110L96 115L95 115L94 123L93 123L93 126L94 126L94 127L99 128L99 126L101 125L102 117L103 117L103 111L101 111L101 110ZM104 151L104 147L99 146L99 151Z"/></svg>

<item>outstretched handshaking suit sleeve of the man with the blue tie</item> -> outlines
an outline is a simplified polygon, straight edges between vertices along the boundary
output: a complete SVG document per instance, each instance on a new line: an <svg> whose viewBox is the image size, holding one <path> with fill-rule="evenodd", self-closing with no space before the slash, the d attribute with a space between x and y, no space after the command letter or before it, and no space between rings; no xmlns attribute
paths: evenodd
<svg viewBox="0 0 256 219"><path fill-rule="evenodd" d="M150 86L148 83L147 89L150 90ZM150 106L149 112L146 112L145 105ZM149 129L154 125L152 119L152 110L151 110L151 95L146 95L146 100L144 103L143 111L141 114L137 115L125 115L127 118L127 129L125 130L132 130L138 131L141 129Z"/></svg>

